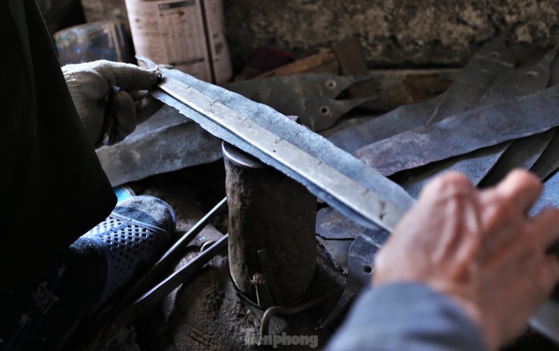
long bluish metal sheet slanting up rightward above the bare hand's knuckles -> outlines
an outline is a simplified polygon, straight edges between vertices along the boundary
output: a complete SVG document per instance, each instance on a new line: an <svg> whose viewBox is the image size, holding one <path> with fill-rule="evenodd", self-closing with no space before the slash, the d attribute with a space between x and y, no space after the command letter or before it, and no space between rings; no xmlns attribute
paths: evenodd
<svg viewBox="0 0 559 351"><path fill-rule="evenodd" d="M542 133L559 124L559 88L454 115L354 152L385 176L464 155L504 141ZM530 115L530 118L526 118ZM483 128L480 128L483 126Z"/></svg>

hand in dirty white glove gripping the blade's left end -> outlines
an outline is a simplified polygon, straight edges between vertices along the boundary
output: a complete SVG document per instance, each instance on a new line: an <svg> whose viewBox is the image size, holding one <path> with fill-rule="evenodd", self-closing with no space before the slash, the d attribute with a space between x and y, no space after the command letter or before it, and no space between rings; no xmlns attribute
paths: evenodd
<svg viewBox="0 0 559 351"><path fill-rule="evenodd" d="M134 64L107 60L68 64L62 67L62 72L80 120L95 146L101 145L103 121L108 108L112 108L114 113L110 143L122 141L136 129L136 124L149 117L138 120L138 111L151 98L147 89L161 78L158 69L143 69ZM115 86L120 91L112 99L112 106L107 106L109 93Z"/></svg>

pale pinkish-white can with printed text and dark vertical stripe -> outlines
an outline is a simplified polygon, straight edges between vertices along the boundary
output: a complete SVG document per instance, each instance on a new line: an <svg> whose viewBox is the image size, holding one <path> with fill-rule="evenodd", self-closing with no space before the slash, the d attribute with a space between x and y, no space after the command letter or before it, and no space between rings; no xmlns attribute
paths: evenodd
<svg viewBox="0 0 559 351"><path fill-rule="evenodd" d="M210 83L231 79L222 0L126 0L134 49Z"/></svg>

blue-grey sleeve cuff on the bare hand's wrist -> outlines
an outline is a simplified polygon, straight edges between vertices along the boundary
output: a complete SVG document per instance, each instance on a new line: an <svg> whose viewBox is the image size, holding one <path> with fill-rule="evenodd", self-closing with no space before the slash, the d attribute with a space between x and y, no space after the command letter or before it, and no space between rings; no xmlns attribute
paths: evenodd
<svg viewBox="0 0 559 351"><path fill-rule="evenodd" d="M414 282L368 288L325 350L484 351L477 326L449 297Z"/></svg>

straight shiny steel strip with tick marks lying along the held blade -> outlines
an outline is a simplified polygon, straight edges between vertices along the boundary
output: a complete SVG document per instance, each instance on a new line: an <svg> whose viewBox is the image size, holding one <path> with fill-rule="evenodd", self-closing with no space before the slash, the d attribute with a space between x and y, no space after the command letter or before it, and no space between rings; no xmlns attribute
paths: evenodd
<svg viewBox="0 0 559 351"><path fill-rule="evenodd" d="M298 173L315 187L320 187L326 194L358 213L365 220L390 231L405 213L405 210L395 206L389 199L383 199L367 187L363 187L325 164L321 159L313 157L307 151L189 85L175 78L166 77L158 87L185 106L210 118L219 124L219 127L230 131L243 142L257 148L264 155ZM328 198L324 201L328 202Z"/></svg>

